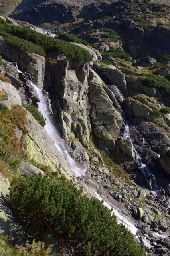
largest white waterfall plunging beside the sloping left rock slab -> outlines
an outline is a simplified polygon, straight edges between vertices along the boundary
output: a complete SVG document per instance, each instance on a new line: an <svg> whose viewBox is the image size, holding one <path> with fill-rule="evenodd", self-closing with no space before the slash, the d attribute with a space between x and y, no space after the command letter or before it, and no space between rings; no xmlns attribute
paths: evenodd
<svg viewBox="0 0 170 256"><path fill-rule="evenodd" d="M38 109L42 113L43 117L45 118L45 130L51 140L53 140L55 147L59 152L63 155L63 157L67 160L69 164L69 168L71 169L71 172L75 177L83 177L85 175L85 170L81 170L80 168L77 167L75 161L71 158L69 155L65 145L64 145L64 140L61 139L59 136L55 126L54 126L54 121L53 118L51 117L51 112L49 110L47 98L43 95L43 91L38 88L33 82L31 82L31 85L34 89L34 92L37 94L38 99L40 102L38 103Z"/></svg>

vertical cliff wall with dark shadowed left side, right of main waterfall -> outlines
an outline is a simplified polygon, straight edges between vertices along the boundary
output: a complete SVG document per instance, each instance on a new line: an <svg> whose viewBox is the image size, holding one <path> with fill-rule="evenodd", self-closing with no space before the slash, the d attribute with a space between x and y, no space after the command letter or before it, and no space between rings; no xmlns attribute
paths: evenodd
<svg viewBox="0 0 170 256"><path fill-rule="evenodd" d="M63 135L67 140L78 138L85 147L89 143L88 74L87 62L77 64L73 60L64 59L56 60L55 64L48 62L45 72L45 84L48 85L51 97L54 98Z"/></svg>

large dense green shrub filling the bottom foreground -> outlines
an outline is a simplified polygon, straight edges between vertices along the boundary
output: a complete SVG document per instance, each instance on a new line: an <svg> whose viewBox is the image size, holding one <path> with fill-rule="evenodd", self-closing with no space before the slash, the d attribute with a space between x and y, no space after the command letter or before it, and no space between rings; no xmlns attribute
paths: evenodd
<svg viewBox="0 0 170 256"><path fill-rule="evenodd" d="M146 255L103 202L82 195L71 182L35 175L14 181L10 191L9 201L27 228L41 235L53 231L77 255Z"/></svg>

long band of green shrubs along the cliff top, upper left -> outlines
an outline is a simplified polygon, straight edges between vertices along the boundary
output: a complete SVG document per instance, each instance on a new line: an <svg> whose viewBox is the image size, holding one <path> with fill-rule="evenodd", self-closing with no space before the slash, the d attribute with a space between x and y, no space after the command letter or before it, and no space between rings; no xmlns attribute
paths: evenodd
<svg viewBox="0 0 170 256"><path fill-rule="evenodd" d="M19 46L20 48L23 48L23 42L25 42L26 46L29 46L30 48L35 48L36 45L39 50L43 49L43 51L45 51L46 53L52 50L57 50L77 60L77 62L82 62L83 60L92 60L92 57L89 54L89 52L81 48L80 46L70 44L69 42L65 42L63 40L45 36L28 28L21 28L19 26L9 25L6 22L4 22L4 20L1 19L0 34L2 36L4 34L5 40L7 40L6 42L13 44L14 47ZM14 42L12 43L11 36L16 36L18 39L14 38ZM26 41L22 41L21 39L24 39ZM29 44L27 41L33 43L34 45Z"/></svg>

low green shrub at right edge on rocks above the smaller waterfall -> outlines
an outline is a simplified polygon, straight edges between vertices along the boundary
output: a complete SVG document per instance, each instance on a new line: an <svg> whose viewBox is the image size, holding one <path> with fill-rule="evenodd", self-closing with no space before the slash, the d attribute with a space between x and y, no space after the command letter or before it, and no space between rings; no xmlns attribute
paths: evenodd
<svg viewBox="0 0 170 256"><path fill-rule="evenodd" d="M153 74L142 74L141 77L142 85L159 88L170 94L170 81L162 76L156 76Z"/></svg>

